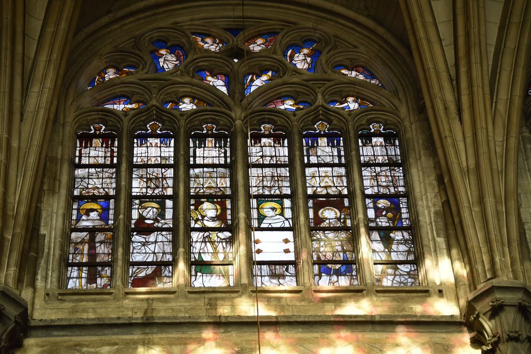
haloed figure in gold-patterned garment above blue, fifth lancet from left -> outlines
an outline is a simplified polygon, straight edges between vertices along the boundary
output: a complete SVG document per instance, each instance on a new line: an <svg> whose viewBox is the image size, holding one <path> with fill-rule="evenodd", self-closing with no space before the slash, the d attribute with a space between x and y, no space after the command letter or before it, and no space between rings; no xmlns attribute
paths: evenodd
<svg viewBox="0 0 531 354"><path fill-rule="evenodd" d="M346 209L346 208L345 208ZM341 227L345 226L344 218L348 218L348 211L340 212L332 206L325 206L318 211L319 217L323 220L319 227ZM312 232L312 241L316 259L319 261L347 261L352 259L354 246L349 231L327 230ZM319 285L324 286L345 286L355 285L353 283L354 272L352 264L321 264L319 265L318 278Z"/></svg>

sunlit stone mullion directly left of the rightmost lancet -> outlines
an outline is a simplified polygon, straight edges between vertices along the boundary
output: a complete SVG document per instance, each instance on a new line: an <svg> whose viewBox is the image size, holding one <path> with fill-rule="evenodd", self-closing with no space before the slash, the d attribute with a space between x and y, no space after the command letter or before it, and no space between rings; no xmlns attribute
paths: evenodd
<svg viewBox="0 0 531 354"><path fill-rule="evenodd" d="M353 236L354 244L356 245L356 271L358 274L358 283L365 284L369 293L374 291L375 276L374 265L372 260L372 246L370 241L370 230L367 227L369 222L367 221L367 212L365 205L365 192L363 188L362 167L359 160L359 143L357 134L355 133L355 125L352 125L350 129L347 129L348 137L348 161L347 167L347 180L349 188L349 195L352 198L352 206L354 214L356 215L356 221L353 220L353 225L357 225L357 230L354 230ZM354 176L358 176L355 178Z"/></svg>

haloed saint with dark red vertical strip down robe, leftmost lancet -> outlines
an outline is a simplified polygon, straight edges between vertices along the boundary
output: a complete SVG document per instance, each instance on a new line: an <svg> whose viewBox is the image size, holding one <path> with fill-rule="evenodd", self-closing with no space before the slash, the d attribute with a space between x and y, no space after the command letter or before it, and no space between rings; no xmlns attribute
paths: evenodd
<svg viewBox="0 0 531 354"><path fill-rule="evenodd" d="M81 217L75 224L75 228L102 228L107 223L102 220L103 207L100 203L87 202L80 206ZM106 262L110 260L111 240L113 234L107 231L78 231L71 234L71 262ZM87 277L83 277L80 267L72 267L69 279L74 282L69 284L69 288L102 288L101 275L98 276L98 269L89 266Z"/></svg>

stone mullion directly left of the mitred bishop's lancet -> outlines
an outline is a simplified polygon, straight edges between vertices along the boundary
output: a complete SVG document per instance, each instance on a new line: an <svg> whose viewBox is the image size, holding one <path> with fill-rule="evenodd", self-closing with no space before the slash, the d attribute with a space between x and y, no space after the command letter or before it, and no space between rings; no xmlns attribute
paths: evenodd
<svg viewBox="0 0 531 354"><path fill-rule="evenodd" d="M177 177L177 212L174 214L177 215L177 232L173 236L173 244L177 245L177 266L174 262L173 269L173 281L174 286L184 287L189 285L190 279L190 206L189 204L189 195L190 195L190 169L187 168L190 159L190 138L187 136L187 130L185 127L179 127L177 131L177 143L174 144L174 149L177 149L177 153L174 153L174 166L177 163L177 170L175 177ZM174 150L175 151L175 150ZM174 180L175 180L174 177ZM174 188L175 194L175 188ZM174 198L175 203L175 198ZM174 209L175 210L175 209ZM174 227L175 230L175 227ZM186 246L188 245L188 248ZM190 251L190 252L189 252ZM175 256L175 252L174 252Z"/></svg>

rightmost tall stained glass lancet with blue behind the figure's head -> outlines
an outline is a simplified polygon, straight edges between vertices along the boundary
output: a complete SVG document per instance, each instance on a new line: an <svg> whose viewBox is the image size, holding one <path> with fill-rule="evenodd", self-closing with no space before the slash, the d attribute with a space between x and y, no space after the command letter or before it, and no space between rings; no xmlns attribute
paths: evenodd
<svg viewBox="0 0 531 354"><path fill-rule="evenodd" d="M359 132L365 204L376 284L419 284L400 145L395 131L371 124Z"/></svg>

